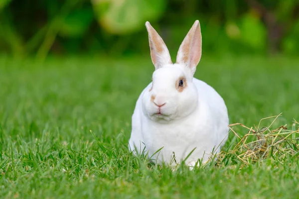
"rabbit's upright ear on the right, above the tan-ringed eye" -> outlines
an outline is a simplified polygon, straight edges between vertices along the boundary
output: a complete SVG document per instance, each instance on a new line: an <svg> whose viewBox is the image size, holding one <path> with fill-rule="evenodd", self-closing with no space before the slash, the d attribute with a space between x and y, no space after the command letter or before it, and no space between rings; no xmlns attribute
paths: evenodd
<svg viewBox="0 0 299 199"><path fill-rule="evenodd" d="M190 68L192 76L201 57L201 32L196 20L178 49L176 63Z"/></svg>

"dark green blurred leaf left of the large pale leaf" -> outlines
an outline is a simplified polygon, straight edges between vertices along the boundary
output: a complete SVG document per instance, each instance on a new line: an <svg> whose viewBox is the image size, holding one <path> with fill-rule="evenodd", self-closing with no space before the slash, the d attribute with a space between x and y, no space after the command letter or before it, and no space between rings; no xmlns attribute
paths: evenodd
<svg viewBox="0 0 299 199"><path fill-rule="evenodd" d="M64 37L80 37L85 33L92 19L91 9L73 11L65 18L59 34Z"/></svg>

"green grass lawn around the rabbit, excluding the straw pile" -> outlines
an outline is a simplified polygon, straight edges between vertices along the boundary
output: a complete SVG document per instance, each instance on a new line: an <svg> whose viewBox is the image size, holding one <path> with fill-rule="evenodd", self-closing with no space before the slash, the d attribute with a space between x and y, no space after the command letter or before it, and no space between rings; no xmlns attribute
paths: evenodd
<svg viewBox="0 0 299 199"><path fill-rule="evenodd" d="M283 112L274 126L292 128L299 120L298 63L286 57L203 57L195 76L224 98L230 123L251 127ZM249 165L231 159L174 172L133 157L127 149L131 115L152 71L149 57L56 58L44 64L1 57L0 198L298 196L297 157ZM231 132L224 150L237 141Z"/></svg>

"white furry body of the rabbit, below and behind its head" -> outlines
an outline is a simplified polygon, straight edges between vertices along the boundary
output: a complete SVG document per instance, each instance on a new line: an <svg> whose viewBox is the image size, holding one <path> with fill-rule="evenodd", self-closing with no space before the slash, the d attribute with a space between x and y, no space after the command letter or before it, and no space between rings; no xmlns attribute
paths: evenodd
<svg viewBox="0 0 299 199"><path fill-rule="evenodd" d="M228 134L228 113L224 100L205 82L193 78L198 94L195 110L180 120L159 123L151 120L144 113L142 96L151 88L151 84L142 92L137 100L132 116L132 134L130 148L148 152L151 159L158 164L162 162L174 165L191 153L186 164L194 166L198 159L205 162L209 155L219 153Z"/></svg>

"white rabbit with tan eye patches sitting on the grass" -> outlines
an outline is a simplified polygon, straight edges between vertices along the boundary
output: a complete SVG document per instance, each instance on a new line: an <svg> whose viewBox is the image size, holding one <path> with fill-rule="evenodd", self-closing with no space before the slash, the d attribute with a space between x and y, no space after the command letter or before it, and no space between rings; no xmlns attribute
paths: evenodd
<svg viewBox="0 0 299 199"><path fill-rule="evenodd" d="M148 21L146 27L155 71L137 100L129 148L135 154L148 153L157 164L172 166L195 148L185 161L194 167L198 159L206 162L212 152L220 152L229 129L224 100L211 86L193 78L201 57L199 21L180 45L175 64Z"/></svg>

